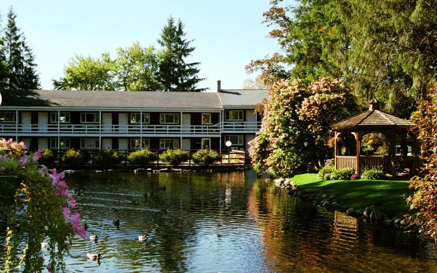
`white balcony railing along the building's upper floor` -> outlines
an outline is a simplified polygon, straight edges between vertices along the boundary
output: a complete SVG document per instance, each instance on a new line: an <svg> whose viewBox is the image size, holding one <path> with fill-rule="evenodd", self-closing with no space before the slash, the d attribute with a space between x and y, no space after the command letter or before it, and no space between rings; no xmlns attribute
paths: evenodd
<svg viewBox="0 0 437 273"><path fill-rule="evenodd" d="M218 134L221 131L258 131L260 122L223 122L212 125L99 125L99 124L0 124L0 133L52 134Z"/></svg>

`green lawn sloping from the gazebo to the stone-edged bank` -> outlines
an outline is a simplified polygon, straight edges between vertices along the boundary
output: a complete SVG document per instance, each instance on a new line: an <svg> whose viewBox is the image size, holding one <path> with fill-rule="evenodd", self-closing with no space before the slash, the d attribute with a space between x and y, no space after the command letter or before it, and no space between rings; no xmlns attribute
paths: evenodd
<svg viewBox="0 0 437 273"><path fill-rule="evenodd" d="M305 191L314 191L317 196L335 195L342 205L351 208L380 206L387 215L404 215L409 212L409 205L402 195L413 195L408 188L408 181L384 180L333 180L323 181L317 174L299 174L291 178L297 186Z"/></svg>

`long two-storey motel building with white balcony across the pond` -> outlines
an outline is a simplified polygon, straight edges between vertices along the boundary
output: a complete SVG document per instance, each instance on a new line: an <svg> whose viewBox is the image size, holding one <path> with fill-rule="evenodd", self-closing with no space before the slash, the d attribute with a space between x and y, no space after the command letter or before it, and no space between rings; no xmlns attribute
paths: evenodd
<svg viewBox="0 0 437 273"><path fill-rule="evenodd" d="M29 150L247 150L267 90L217 91L4 91L0 137Z"/></svg>

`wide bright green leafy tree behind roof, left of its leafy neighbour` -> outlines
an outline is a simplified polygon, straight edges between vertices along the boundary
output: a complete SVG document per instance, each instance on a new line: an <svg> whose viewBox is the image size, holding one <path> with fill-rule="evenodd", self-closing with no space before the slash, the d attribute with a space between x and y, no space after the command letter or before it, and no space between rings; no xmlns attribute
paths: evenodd
<svg viewBox="0 0 437 273"><path fill-rule="evenodd" d="M101 58L76 54L64 67L64 76L57 80L52 78L52 82L59 90L113 90L114 70L109 53L102 54Z"/></svg>

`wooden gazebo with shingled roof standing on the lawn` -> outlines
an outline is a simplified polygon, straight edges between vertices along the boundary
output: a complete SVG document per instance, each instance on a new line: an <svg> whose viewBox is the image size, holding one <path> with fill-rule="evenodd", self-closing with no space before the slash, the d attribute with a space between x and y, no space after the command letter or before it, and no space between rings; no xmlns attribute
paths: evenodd
<svg viewBox="0 0 437 273"><path fill-rule="evenodd" d="M359 174L360 168L364 166L388 167L391 162L387 156L361 155L362 137L368 133L383 133L388 139L392 139L395 137L394 133L406 133L413 125L414 123L406 119L401 119L381 111L379 109L378 100L372 99L369 102L369 109L367 111L331 125L331 128L335 132L335 168L342 169L350 167L355 170L356 174ZM357 145L356 156L339 155L337 138L342 133L351 133L354 135ZM406 154L403 156L406 156Z"/></svg>

